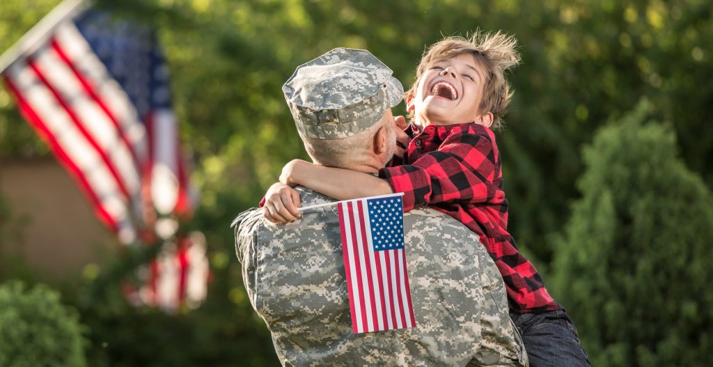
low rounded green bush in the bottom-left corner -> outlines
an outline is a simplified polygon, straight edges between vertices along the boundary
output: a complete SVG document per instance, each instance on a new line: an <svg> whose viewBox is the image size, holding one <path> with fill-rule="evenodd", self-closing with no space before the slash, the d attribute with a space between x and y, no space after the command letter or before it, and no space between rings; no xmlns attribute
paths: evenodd
<svg viewBox="0 0 713 367"><path fill-rule="evenodd" d="M0 285L0 366L86 366L78 319L48 286Z"/></svg>

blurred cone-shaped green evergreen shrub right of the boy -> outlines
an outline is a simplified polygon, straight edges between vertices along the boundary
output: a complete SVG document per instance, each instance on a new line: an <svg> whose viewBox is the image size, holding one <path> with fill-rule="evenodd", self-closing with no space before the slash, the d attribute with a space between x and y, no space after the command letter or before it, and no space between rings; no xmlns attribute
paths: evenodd
<svg viewBox="0 0 713 367"><path fill-rule="evenodd" d="M650 104L584 150L583 197L558 241L553 293L593 366L701 366L713 358L713 195L677 157Z"/></svg>

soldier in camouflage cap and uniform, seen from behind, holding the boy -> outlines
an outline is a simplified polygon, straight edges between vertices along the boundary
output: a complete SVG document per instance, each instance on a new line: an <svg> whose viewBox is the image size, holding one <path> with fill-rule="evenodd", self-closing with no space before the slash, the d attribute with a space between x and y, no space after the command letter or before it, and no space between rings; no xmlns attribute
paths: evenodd
<svg viewBox="0 0 713 367"><path fill-rule="evenodd" d="M376 174L396 150L391 107L401 83L371 53L336 48L284 84L307 153L319 165ZM297 187L303 206L334 202ZM527 366L503 279L478 236L431 208L404 214L416 327L353 334L336 206L273 224L262 210L234 222L255 311L283 366Z"/></svg>

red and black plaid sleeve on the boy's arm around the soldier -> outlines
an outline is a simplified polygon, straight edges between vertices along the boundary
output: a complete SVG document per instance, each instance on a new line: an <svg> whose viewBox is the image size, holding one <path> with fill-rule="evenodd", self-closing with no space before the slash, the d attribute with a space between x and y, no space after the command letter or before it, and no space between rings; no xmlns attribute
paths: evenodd
<svg viewBox="0 0 713 367"><path fill-rule="evenodd" d="M409 165L386 167L379 177L404 192L404 211L436 202L491 202L496 153L486 135L458 132Z"/></svg>

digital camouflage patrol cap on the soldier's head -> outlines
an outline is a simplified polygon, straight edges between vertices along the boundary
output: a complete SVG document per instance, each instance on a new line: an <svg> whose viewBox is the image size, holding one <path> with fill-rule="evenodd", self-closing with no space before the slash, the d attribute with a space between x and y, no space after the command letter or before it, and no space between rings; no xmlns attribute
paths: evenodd
<svg viewBox="0 0 713 367"><path fill-rule="evenodd" d="M334 48L297 67L282 86L299 135L347 138L404 98L393 72L369 51Z"/></svg>

